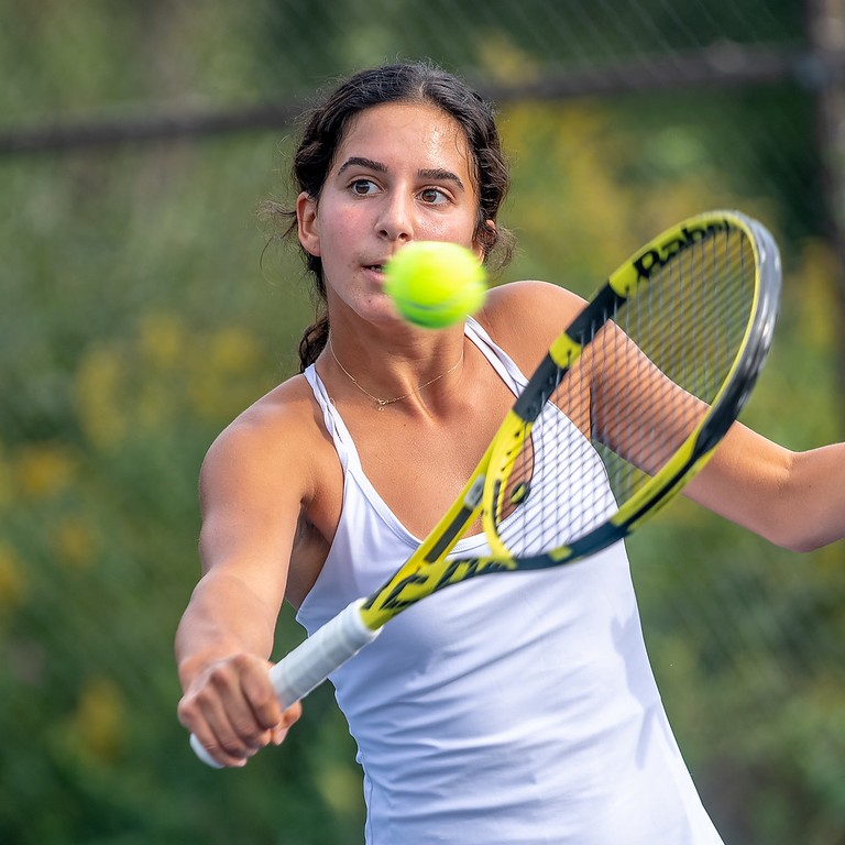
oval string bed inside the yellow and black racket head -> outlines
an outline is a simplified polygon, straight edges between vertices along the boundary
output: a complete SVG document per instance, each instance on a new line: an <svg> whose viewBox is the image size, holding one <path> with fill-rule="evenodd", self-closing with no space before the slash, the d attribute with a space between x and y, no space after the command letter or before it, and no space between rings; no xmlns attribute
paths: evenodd
<svg viewBox="0 0 845 845"><path fill-rule="evenodd" d="M605 524L694 434L745 339L751 250L738 230L706 237L640 283L599 330L517 456L498 528L514 556Z"/></svg>

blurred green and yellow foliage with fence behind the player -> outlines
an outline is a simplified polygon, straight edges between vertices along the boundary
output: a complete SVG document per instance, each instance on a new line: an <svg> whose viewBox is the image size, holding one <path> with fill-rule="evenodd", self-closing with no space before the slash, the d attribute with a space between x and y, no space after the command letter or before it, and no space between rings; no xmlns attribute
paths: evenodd
<svg viewBox="0 0 845 845"><path fill-rule="evenodd" d="M196 479L296 369L296 116L431 57L501 107L519 242L496 282L589 294L714 207L760 218L782 316L744 419L845 438L842 0L0 0L0 843L360 843L331 691L211 771L173 635ZM845 843L845 547L780 551L688 503L629 544L655 671L728 845ZM287 608L281 656L301 637Z"/></svg>

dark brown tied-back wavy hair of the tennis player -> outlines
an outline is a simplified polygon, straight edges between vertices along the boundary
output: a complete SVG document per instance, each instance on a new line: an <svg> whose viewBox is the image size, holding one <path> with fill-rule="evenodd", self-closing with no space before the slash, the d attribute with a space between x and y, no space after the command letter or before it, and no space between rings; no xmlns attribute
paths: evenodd
<svg viewBox="0 0 845 845"><path fill-rule="evenodd" d="M496 221L511 184L493 108L461 79L429 62L362 70L342 83L317 108L309 111L305 116L305 128L294 155L294 185L299 191L319 198L350 119L373 106L397 101L429 102L450 114L463 129L474 163L479 194L474 239L484 251L485 262L491 262L495 250L496 265L504 266L512 255L511 234L487 224L487 221ZM294 210L283 210L274 204L270 204L268 209L272 216L285 219L286 235L296 232ZM315 278L317 320L299 342L300 371L317 360L329 336L322 263L318 256L305 250L303 253L306 266Z"/></svg>

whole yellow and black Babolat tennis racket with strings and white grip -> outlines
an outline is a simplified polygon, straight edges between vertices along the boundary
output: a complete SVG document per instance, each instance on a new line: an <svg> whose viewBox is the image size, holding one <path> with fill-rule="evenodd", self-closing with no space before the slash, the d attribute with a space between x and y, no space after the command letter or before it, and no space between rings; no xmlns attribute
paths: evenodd
<svg viewBox="0 0 845 845"><path fill-rule="evenodd" d="M684 220L636 252L553 341L419 548L271 669L283 709L426 596L582 560L659 512L748 398L779 293L775 241L735 211ZM490 553L450 556L479 530ZM196 737L191 745L217 766Z"/></svg>

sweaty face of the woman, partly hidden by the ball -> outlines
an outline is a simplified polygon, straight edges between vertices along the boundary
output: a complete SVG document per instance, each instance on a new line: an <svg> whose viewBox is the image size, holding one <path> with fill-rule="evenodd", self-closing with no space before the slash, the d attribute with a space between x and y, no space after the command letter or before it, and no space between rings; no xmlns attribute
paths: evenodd
<svg viewBox="0 0 845 845"><path fill-rule="evenodd" d="M299 196L299 240L320 257L330 310L396 320L382 266L411 241L452 241L481 257L478 209L460 124L427 103L385 103L350 122L319 199Z"/></svg>

